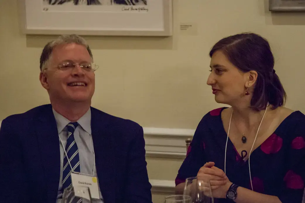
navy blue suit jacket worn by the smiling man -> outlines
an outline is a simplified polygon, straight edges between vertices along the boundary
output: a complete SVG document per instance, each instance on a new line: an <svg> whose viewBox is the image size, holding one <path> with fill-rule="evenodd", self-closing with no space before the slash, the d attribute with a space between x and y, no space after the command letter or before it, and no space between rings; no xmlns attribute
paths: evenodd
<svg viewBox="0 0 305 203"><path fill-rule="evenodd" d="M91 107L99 186L105 203L151 203L143 128ZM7 117L0 130L0 202L56 202L60 152L50 104Z"/></svg>

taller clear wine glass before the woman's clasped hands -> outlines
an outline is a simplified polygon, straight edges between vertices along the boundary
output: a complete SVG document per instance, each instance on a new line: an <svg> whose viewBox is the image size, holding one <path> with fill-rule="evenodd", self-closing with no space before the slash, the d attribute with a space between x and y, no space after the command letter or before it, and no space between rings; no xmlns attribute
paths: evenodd
<svg viewBox="0 0 305 203"><path fill-rule="evenodd" d="M185 180L184 195L192 197L194 203L214 203L210 180L189 177Z"/></svg>

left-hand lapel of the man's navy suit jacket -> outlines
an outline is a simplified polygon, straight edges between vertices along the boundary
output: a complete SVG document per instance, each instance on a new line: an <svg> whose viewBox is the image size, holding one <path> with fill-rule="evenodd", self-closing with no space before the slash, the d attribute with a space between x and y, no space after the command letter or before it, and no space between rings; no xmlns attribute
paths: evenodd
<svg viewBox="0 0 305 203"><path fill-rule="evenodd" d="M36 126L47 199L55 202L60 177L60 151L57 125L51 105L45 106L45 109L41 111L37 117Z"/></svg>

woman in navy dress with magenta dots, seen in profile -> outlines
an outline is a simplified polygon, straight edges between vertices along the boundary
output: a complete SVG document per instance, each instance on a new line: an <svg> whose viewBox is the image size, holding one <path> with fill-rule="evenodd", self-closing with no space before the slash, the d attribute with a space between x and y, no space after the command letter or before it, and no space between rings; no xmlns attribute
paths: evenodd
<svg viewBox="0 0 305 203"><path fill-rule="evenodd" d="M305 115L283 107L286 94L269 43L254 33L218 41L207 84L217 103L200 121L176 178L208 178L217 202L301 203ZM251 178L250 178L251 177Z"/></svg>

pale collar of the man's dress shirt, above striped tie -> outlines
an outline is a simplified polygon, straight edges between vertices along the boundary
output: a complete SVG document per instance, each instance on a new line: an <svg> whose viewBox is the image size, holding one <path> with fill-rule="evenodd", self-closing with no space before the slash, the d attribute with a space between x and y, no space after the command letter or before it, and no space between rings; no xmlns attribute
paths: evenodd
<svg viewBox="0 0 305 203"><path fill-rule="evenodd" d="M52 110L56 120L58 133L60 133L63 131L66 125L72 121L69 121L66 117L63 117L61 114L57 113L53 108ZM88 111L77 120L77 123L81 126L81 128L84 129L84 131L91 135L91 108L89 108Z"/></svg>

